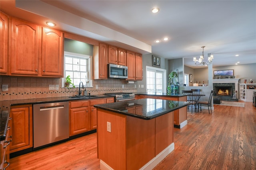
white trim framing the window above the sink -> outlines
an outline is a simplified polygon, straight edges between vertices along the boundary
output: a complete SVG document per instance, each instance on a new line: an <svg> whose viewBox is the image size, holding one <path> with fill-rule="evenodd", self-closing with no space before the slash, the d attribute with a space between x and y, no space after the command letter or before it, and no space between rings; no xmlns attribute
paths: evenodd
<svg viewBox="0 0 256 170"><path fill-rule="evenodd" d="M89 55L83 55L83 54L78 54L78 53L71 53L71 52L68 52L68 51L64 51L64 64L65 64L65 55L70 55L70 56L78 56L78 57L85 57L87 59L90 59L88 61L88 70L90 70L89 74L90 74L90 78L87 77L87 79L89 80L89 83L84 84L84 87L93 87L92 86L92 56L89 56ZM65 68L65 66L63 66L63 68ZM64 73L65 74L65 73ZM62 88L66 88L64 87L64 82L66 80L66 75L64 75L63 78L61 78L61 86ZM75 87L78 87L79 85L75 85Z"/></svg>

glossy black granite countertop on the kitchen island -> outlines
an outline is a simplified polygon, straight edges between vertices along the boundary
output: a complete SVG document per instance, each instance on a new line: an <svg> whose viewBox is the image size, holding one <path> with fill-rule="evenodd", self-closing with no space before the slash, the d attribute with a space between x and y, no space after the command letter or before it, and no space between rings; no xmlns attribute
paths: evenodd
<svg viewBox="0 0 256 170"><path fill-rule="evenodd" d="M189 102L179 102L173 100L160 100L160 99L139 99L128 100L124 102L115 102L110 104L94 105L96 108L113 111L123 115L137 117L140 119L154 119L155 117L164 115L176 109L188 106ZM131 107L142 107L138 113L128 111Z"/></svg>

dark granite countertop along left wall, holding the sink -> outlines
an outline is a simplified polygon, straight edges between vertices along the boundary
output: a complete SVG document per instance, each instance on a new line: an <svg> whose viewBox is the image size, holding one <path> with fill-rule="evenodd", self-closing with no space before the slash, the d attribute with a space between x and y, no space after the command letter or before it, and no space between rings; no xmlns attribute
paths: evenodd
<svg viewBox="0 0 256 170"><path fill-rule="evenodd" d="M24 105L24 104L42 104L52 102L66 102L71 100L86 100L86 99L97 99L97 98L108 98L103 94L97 95L96 97L83 97L83 98L70 98L70 97L58 97L58 98L39 98L39 99L24 99L24 100L4 100L0 101L0 141L5 140L8 119L10 114L10 106Z"/></svg>

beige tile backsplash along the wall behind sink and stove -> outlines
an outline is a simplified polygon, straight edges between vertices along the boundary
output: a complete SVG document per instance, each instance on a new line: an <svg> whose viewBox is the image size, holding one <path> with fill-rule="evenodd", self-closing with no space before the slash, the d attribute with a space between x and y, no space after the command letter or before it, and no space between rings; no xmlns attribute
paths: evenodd
<svg viewBox="0 0 256 170"><path fill-rule="evenodd" d="M2 91L2 84L8 85L8 91ZM49 85L58 85L58 90L49 90ZM96 89L98 85L98 89ZM122 88L124 85L124 88ZM134 84L127 84L126 80L109 79L93 80L91 87L86 90L91 95L110 92L137 92ZM78 88L62 88L61 78L36 78L18 76L0 76L0 100L22 100L33 98L53 98L75 96ZM84 90L84 89L82 89Z"/></svg>

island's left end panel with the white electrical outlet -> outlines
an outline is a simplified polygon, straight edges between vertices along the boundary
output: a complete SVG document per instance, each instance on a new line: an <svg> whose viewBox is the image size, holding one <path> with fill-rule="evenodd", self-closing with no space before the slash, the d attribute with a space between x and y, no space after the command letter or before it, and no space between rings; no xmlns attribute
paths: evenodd
<svg viewBox="0 0 256 170"><path fill-rule="evenodd" d="M126 116L97 109L98 158L115 170L126 169ZM107 131L111 123L111 133Z"/></svg>

